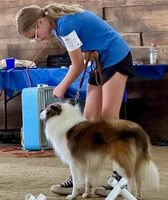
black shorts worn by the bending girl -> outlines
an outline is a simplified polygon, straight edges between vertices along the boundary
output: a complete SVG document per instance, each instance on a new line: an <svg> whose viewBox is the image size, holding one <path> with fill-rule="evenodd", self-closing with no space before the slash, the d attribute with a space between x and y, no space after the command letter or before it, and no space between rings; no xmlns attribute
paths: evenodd
<svg viewBox="0 0 168 200"><path fill-rule="evenodd" d="M129 52L127 56L119 63L102 69L102 85L106 83L116 72L120 72L121 74L124 74L129 78L134 76L135 70L132 62L131 52ZM92 70L90 72L88 83L91 85L100 85L99 74Z"/></svg>

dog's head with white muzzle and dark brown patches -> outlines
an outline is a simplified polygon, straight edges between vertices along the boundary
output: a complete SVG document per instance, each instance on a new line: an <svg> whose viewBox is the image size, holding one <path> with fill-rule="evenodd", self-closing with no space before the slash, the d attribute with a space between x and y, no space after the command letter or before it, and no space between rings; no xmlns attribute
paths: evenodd
<svg viewBox="0 0 168 200"><path fill-rule="evenodd" d="M80 111L79 105L75 105L73 102L58 102L50 104L46 107L44 111L40 113L40 119L46 122L55 117L62 120L72 119L76 117L81 117L82 113Z"/></svg>

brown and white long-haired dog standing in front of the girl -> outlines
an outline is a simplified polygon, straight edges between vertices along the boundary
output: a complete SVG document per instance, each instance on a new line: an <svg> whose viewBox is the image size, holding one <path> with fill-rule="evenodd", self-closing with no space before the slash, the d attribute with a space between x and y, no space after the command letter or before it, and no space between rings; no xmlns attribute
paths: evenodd
<svg viewBox="0 0 168 200"><path fill-rule="evenodd" d="M110 158L124 172L128 188L136 186L141 197L141 183L159 188L159 173L151 160L147 133L136 123L127 120L87 121L78 105L54 103L41 112L47 139L64 163L69 165L74 199L85 186L83 198L90 197L90 181L105 158Z"/></svg>

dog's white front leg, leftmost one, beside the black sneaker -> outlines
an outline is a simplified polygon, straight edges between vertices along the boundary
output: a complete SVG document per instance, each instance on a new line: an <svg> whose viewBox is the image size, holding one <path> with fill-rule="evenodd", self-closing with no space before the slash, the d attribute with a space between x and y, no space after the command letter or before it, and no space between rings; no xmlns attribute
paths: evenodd
<svg viewBox="0 0 168 200"><path fill-rule="evenodd" d="M79 195L80 191L80 183L78 181L78 169L74 163L69 164L69 168L72 175L72 181L73 181L73 188L72 188L72 194L68 195L66 197L67 200L75 199Z"/></svg>

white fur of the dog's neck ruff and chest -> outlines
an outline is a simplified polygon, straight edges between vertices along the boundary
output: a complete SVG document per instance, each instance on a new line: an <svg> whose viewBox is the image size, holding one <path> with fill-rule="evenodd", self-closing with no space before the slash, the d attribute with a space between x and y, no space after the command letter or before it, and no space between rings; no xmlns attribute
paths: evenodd
<svg viewBox="0 0 168 200"><path fill-rule="evenodd" d="M54 116L47 121L45 133L61 160L69 164L72 160L72 156L68 149L66 133L73 125L84 121L84 118L78 105L75 106L75 109L74 106L69 103L61 103L61 105L63 108L61 115ZM45 112L46 111L43 111L41 113L41 118L45 117Z"/></svg>

